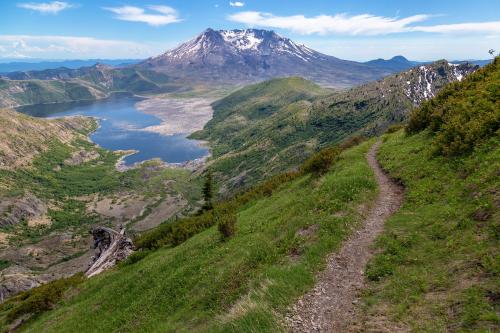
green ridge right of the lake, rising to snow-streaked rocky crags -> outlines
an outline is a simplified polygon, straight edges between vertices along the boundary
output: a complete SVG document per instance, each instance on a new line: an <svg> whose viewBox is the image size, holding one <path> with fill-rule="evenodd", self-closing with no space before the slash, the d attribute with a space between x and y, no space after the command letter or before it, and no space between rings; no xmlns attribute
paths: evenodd
<svg viewBox="0 0 500 333"><path fill-rule="evenodd" d="M379 134L407 120L412 108L445 84L476 69L440 61L330 93L298 79L264 82L214 103L213 120L193 136L211 143L210 167L224 193L294 167L315 150L348 136ZM316 96L296 98L289 80L301 82L304 94L309 90ZM281 97L283 103L276 104Z"/></svg>

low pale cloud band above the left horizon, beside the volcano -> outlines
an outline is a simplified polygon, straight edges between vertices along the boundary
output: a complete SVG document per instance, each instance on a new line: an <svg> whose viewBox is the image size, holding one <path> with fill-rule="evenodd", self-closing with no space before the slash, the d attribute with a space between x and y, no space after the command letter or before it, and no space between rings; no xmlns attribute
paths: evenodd
<svg viewBox="0 0 500 333"><path fill-rule="evenodd" d="M0 35L3 58L147 58L171 46L93 37Z"/></svg>

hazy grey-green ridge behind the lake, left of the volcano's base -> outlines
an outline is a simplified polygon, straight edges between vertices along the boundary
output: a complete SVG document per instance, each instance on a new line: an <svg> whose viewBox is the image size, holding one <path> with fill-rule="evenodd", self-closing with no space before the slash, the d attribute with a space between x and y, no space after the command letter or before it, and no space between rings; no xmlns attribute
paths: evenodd
<svg viewBox="0 0 500 333"><path fill-rule="evenodd" d="M12 72L0 78L0 106L96 100L113 92L161 93L189 89L165 74L96 64L70 69Z"/></svg>

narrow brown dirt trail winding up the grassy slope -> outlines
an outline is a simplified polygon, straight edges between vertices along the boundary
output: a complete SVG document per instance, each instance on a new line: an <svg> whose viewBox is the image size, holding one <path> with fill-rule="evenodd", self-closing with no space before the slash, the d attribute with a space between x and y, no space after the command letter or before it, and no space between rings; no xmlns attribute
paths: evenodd
<svg viewBox="0 0 500 333"><path fill-rule="evenodd" d="M381 169L376 159L380 142L375 143L366 158L375 173L379 194L368 212L362 228L330 255L326 269L315 287L304 295L286 317L292 332L355 331L359 291L364 286L364 270L373 256L371 248L382 232L385 220L396 212L403 199L403 189Z"/></svg>

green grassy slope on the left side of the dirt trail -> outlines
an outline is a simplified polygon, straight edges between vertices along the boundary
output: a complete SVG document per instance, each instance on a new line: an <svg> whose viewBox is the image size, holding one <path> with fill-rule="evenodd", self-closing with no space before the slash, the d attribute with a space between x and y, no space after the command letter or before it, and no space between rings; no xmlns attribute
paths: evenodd
<svg viewBox="0 0 500 333"><path fill-rule="evenodd" d="M229 239L214 226L92 278L24 331L283 330L287 307L358 225L358 206L375 197L364 156L371 143L343 152L321 177L299 177L240 206ZM313 225L309 236L297 233Z"/></svg>

